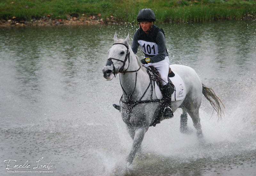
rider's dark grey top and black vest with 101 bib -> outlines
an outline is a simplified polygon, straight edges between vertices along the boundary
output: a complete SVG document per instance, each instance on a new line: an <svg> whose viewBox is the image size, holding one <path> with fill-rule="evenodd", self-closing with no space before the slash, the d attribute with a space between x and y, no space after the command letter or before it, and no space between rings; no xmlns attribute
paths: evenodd
<svg viewBox="0 0 256 176"><path fill-rule="evenodd" d="M168 56L165 46L163 29L153 25L149 33L145 33L140 27L133 35L132 51L137 54L138 48L150 58L150 63L160 62Z"/></svg>

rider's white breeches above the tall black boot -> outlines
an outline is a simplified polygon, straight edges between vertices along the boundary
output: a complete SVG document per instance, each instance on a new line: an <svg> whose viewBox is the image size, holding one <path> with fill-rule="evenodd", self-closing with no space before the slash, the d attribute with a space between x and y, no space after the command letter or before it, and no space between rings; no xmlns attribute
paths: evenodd
<svg viewBox="0 0 256 176"><path fill-rule="evenodd" d="M147 63L147 64L144 64L144 66L155 67L161 75L163 85L166 85L168 83L168 73L169 73L169 67L170 67L170 61L168 56L165 56L165 59L163 61L156 62L156 63Z"/></svg>

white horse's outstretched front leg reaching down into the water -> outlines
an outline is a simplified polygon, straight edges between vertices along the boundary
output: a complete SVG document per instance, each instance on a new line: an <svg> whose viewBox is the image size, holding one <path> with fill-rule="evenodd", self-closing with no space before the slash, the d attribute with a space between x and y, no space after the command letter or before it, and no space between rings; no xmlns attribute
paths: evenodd
<svg viewBox="0 0 256 176"><path fill-rule="evenodd" d="M144 138L145 133L146 133L146 128L140 127L140 128L135 128L134 136L130 134L131 137L133 136L133 143L132 143L132 149L130 150L129 155L126 158L126 162L129 165L132 164L135 154L140 148L140 144Z"/></svg>

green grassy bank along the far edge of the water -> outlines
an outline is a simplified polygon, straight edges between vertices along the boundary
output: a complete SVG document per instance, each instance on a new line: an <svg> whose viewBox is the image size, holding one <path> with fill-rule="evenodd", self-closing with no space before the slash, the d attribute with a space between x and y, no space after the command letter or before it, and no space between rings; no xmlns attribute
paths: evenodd
<svg viewBox="0 0 256 176"><path fill-rule="evenodd" d="M95 15L104 21L111 20L112 16L112 19L132 23L142 8L155 12L156 23L256 17L256 0L1 0L0 18L31 20L48 15L67 19L67 15L76 18Z"/></svg>

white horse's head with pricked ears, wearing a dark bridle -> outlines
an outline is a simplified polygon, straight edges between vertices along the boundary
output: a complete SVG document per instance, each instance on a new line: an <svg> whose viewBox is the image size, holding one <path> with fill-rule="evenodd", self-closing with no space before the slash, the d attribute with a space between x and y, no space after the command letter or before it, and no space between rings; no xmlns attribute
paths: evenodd
<svg viewBox="0 0 256 176"><path fill-rule="evenodd" d="M129 52L129 34L125 40L118 40L116 33L114 35L115 43L108 50L108 61L104 66L102 72L103 77L106 80L111 80L113 77L116 77L116 74L127 70L129 64L126 64L126 61L130 62L130 52Z"/></svg>

